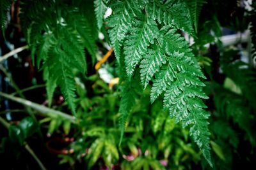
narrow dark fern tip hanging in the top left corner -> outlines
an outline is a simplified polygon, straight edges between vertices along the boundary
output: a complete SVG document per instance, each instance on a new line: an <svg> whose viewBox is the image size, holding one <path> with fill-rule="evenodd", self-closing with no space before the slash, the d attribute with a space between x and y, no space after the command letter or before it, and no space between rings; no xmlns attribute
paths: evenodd
<svg viewBox="0 0 256 170"><path fill-rule="evenodd" d="M0 1L0 26L1 26L1 31L3 32L4 36L4 30L7 22L7 10L10 8L12 4L12 0L1 0Z"/></svg>

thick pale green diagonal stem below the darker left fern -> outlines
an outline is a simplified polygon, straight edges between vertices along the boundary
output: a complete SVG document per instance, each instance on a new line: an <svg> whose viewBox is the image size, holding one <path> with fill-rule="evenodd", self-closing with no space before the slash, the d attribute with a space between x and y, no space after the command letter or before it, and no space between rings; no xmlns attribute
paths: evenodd
<svg viewBox="0 0 256 170"><path fill-rule="evenodd" d="M46 117L59 116L59 117L65 119L65 120L69 120L73 124L76 124L75 118L71 115L68 115L67 113L63 113L63 112L58 111L58 110L52 110L51 108L47 108L47 107L42 106L42 105L37 104L37 103L33 103L33 102L28 101L26 99L22 99L22 98L19 98L19 97L14 97L14 96L11 96L10 94L5 94L3 92L0 92L0 96L3 96L5 98L10 99L12 101L15 101L17 103L28 106L30 108L33 108L33 109L39 111L40 113L42 113L43 116L46 116Z"/></svg>

